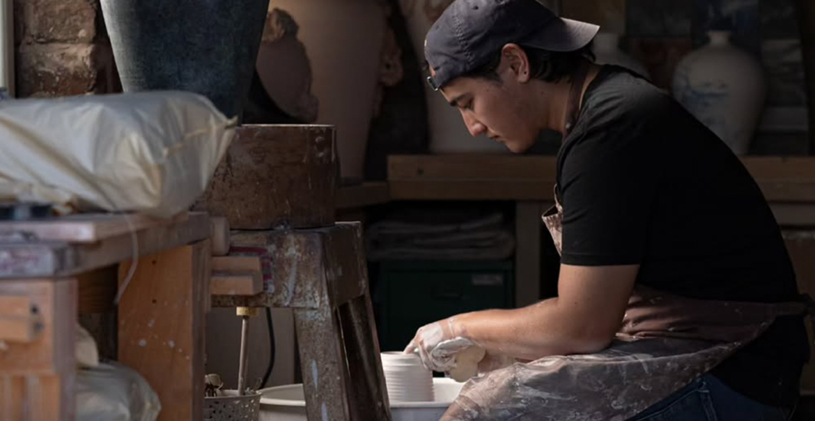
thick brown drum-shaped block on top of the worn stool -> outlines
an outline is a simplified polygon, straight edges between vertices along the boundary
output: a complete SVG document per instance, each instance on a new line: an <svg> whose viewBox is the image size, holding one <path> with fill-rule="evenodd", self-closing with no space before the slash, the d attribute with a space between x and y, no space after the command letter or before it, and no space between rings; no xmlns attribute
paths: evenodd
<svg viewBox="0 0 815 421"><path fill-rule="evenodd" d="M231 229L312 228L334 221L333 126L244 125L194 209Z"/></svg>

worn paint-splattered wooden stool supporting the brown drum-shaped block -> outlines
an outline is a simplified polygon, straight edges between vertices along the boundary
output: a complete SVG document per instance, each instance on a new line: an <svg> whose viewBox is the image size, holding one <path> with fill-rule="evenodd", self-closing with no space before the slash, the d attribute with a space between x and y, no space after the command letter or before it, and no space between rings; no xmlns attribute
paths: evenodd
<svg viewBox="0 0 815 421"><path fill-rule="evenodd" d="M260 259L264 292L213 305L293 308L308 418L390 420L360 224L233 231L230 250Z"/></svg>

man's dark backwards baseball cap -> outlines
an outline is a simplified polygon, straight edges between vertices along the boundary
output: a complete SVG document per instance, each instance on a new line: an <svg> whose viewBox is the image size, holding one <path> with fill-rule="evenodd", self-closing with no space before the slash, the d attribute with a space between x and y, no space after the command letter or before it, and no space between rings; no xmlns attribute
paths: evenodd
<svg viewBox="0 0 815 421"><path fill-rule="evenodd" d="M425 58L438 91L447 82L486 64L513 42L547 51L575 51L588 45L596 24L562 19L537 0L456 0L425 39Z"/></svg>

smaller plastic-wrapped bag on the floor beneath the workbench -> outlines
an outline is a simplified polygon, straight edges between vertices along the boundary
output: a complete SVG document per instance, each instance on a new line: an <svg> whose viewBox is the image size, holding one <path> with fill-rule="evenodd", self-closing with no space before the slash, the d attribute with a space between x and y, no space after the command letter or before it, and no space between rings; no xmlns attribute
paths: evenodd
<svg viewBox="0 0 815 421"><path fill-rule="evenodd" d="M141 375L116 362L77 372L77 421L155 421L156 392Z"/></svg>

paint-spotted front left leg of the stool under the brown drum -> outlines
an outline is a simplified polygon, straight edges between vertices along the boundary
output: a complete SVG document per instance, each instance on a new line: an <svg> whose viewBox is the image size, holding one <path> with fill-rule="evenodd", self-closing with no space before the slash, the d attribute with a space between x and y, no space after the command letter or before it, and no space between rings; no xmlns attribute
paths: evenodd
<svg viewBox="0 0 815 421"><path fill-rule="evenodd" d="M331 308L295 308L308 419L350 420L345 351L337 313Z"/></svg>

